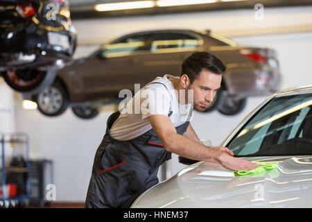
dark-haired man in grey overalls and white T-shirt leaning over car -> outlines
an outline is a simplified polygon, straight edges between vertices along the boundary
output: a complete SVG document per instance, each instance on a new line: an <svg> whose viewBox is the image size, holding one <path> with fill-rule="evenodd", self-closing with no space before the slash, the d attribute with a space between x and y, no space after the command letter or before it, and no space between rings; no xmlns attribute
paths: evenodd
<svg viewBox="0 0 312 222"><path fill-rule="evenodd" d="M155 78L121 112L111 114L94 157L85 207L130 207L159 182L159 166L171 159L171 153L216 162L232 171L258 167L233 157L228 148L202 145L189 123L193 109L202 112L213 101L225 70L216 56L195 52L182 63L180 76ZM146 91L145 97L138 97ZM138 98L139 112L129 112L135 110L132 107Z"/></svg>

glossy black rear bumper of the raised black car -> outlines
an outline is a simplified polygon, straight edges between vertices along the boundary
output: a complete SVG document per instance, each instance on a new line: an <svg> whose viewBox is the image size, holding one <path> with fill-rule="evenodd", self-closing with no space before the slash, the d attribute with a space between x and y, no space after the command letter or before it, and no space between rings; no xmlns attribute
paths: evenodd
<svg viewBox="0 0 312 222"><path fill-rule="evenodd" d="M61 63L71 61L71 56L76 49L76 34L68 31L55 32L68 37L69 44L64 47L49 44L49 32L51 31L37 27L31 33L27 33L26 29L17 31L12 36L7 32L1 33L0 71L27 67L40 69L64 67Z"/></svg>

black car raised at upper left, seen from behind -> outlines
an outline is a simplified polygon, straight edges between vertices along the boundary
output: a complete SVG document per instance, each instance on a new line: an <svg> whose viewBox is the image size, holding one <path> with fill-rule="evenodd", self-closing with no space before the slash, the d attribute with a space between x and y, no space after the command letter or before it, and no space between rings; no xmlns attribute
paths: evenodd
<svg viewBox="0 0 312 222"><path fill-rule="evenodd" d="M1 1L0 42L0 76L18 92L40 92L76 49L69 1Z"/></svg>

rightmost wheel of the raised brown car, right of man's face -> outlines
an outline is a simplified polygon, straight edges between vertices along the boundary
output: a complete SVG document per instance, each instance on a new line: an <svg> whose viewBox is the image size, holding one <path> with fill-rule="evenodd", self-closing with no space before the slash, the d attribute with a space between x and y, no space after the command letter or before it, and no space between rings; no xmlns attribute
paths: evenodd
<svg viewBox="0 0 312 222"><path fill-rule="evenodd" d="M246 101L246 98L235 100L229 96L226 96L223 99L223 102L218 107L218 111L227 116L239 114L239 112L241 112L245 108Z"/></svg>

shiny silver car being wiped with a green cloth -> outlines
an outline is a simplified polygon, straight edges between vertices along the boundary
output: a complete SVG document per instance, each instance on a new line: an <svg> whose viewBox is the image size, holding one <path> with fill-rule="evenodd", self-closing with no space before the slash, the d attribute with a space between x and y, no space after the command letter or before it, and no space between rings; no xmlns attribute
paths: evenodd
<svg viewBox="0 0 312 222"><path fill-rule="evenodd" d="M131 207L312 207L312 85L269 96L221 146L277 169L234 176L196 162L141 194Z"/></svg>

